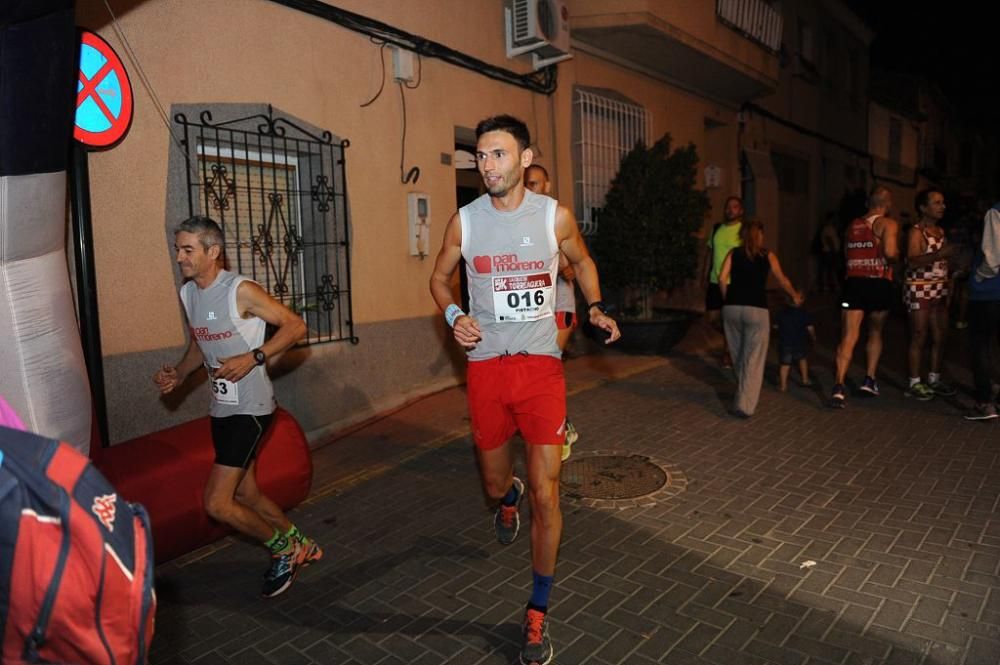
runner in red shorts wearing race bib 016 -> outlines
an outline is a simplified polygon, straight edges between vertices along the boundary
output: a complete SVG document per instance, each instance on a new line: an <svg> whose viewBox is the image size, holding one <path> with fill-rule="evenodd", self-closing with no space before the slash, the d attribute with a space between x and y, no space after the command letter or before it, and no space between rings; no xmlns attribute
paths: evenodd
<svg viewBox="0 0 1000 665"><path fill-rule="evenodd" d="M466 349L468 400L479 473L500 506L497 540L514 542L525 485L514 477L511 437L526 446L531 488L532 593L525 610L520 660L552 661L546 620L562 535L560 456L565 439L566 382L553 316L559 253L569 259L594 326L619 337L604 312L597 267L576 219L555 199L525 189L531 164L528 128L517 118L487 118L476 127L476 164L487 193L463 207L444 233L431 295ZM465 258L469 313L455 304L452 276Z"/></svg>

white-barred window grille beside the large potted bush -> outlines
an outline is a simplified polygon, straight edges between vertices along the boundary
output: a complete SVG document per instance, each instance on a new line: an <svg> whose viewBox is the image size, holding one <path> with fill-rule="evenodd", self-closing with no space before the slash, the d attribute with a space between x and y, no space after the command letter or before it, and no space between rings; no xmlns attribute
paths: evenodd
<svg viewBox="0 0 1000 665"><path fill-rule="evenodd" d="M574 204L581 232L594 235L622 158L636 143L648 145L649 114L637 104L586 90L574 91L573 109Z"/></svg>

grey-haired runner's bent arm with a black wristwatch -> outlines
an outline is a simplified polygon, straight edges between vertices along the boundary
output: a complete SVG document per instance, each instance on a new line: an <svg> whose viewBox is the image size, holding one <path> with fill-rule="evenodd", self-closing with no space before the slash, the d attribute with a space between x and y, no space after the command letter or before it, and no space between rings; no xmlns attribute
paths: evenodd
<svg viewBox="0 0 1000 665"><path fill-rule="evenodd" d="M240 283L236 290L236 307L242 316L256 316L277 328L271 339L260 346L268 358L281 353L306 335L306 323L302 317L272 298L255 282ZM214 376L227 381L239 381L257 366L253 353L249 351L219 360L222 364L215 370Z"/></svg>

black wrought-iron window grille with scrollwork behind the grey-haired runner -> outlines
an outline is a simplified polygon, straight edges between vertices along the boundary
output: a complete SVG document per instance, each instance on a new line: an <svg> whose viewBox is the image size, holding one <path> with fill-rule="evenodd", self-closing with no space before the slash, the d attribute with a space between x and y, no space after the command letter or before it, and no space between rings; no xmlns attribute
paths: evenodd
<svg viewBox="0 0 1000 665"><path fill-rule="evenodd" d="M186 149L188 212L222 227L227 267L299 314L301 344L358 342L351 307L347 140L254 115L174 116Z"/></svg>

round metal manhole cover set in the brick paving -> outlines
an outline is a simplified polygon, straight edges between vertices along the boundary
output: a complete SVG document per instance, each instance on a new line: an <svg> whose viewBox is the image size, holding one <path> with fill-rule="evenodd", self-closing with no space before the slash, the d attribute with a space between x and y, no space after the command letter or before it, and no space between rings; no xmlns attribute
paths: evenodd
<svg viewBox="0 0 1000 665"><path fill-rule="evenodd" d="M563 464L562 489L589 499L634 499L667 484L667 472L643 455L591 455Z"/></svg>

